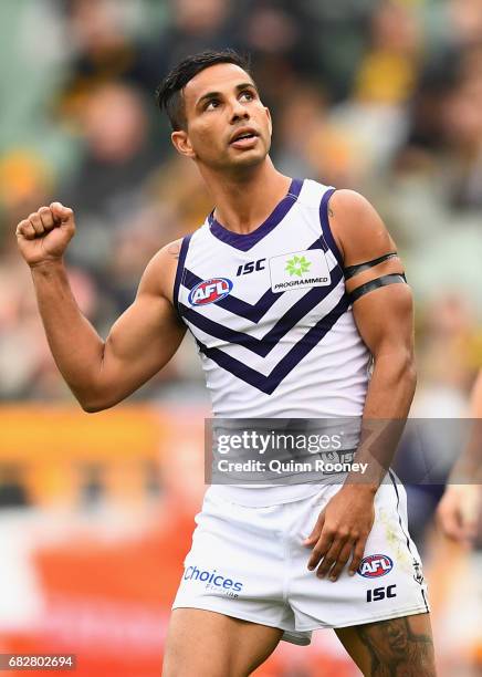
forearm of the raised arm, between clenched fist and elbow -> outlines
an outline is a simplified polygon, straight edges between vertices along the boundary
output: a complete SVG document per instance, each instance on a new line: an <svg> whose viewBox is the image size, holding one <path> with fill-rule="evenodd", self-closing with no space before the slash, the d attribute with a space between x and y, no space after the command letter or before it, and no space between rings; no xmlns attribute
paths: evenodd
<svg viewBox="0 0 482 677"><path fill-rule="evenodd" d="M96 388L104 342L81 313L61 260L33 265L31 272L53 358L84 406Z"/></svg>

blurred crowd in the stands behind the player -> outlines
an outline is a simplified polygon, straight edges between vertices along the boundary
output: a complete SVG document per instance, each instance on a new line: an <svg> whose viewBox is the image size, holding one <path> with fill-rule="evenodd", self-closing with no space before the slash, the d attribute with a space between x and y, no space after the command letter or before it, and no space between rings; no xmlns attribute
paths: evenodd
<svg viewBox="0 0 482 677"><path fill-rule="evenodd" d="M205 48L249 53L272 157L368 197L417 301L418 412L459 416L482 364L482 0L2 0L0 399L69 399L14 228L60 199L105 336L149 258L211 209L154 90ZM136 398L197 397L189 341Z"/></svg>

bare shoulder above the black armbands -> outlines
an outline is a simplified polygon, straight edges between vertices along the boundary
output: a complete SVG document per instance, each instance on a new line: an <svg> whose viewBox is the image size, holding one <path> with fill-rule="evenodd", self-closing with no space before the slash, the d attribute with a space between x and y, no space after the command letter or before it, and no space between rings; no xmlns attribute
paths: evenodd
<svg viewBox="0 0 482 677"><path fill-rule="evenodd" d="M328 202L333 236L346 265L395 251L396 246L375 207L355 190L336 190Z"/></svg>

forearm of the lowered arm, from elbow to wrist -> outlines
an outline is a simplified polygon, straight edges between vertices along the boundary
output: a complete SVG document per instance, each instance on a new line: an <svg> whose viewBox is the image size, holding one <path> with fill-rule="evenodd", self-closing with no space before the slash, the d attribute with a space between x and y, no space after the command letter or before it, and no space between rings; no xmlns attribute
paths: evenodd
<svg viewBox="0 0 482 677"><path fill-rule="evenodd" d="M363 476L349 473L346 483L376 491L392 462L413 399L415 363L407 355L380 356L375 362L362 419L357 464L367 464Z"/></svg>

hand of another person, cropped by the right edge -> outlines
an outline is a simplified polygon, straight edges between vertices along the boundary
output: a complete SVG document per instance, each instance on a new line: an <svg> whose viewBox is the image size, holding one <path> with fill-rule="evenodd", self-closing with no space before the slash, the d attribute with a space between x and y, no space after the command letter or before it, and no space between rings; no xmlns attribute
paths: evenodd
<svg viewBox="0 0 482 677"><path fill-rule="evenodd" d="M443 533L454 541L471 544L476 535L481 488L478 485L449 485L437 509Z"/></svg>

